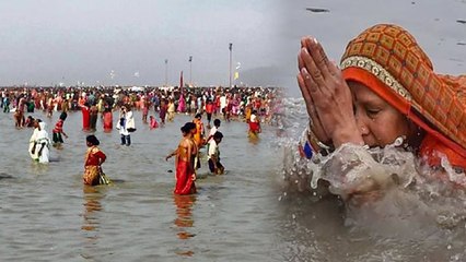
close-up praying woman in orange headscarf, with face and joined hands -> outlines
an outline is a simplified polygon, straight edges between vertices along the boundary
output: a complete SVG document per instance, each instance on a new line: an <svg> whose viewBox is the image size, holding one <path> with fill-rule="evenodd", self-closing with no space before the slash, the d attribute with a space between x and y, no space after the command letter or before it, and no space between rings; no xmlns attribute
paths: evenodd
<svg viewBox="0 0 466 262"><path fill-rule="evenodd" d="M310 117L306 157L336 148L330 163L363 167L369 175L363 179L371 180L347 196L380 188L373 175L384 167L370 151L388 145L427 167L421 176L466 186L466 98L459 95L466 76L435 73L406 29L392 24L365 29L348 44L339 68L315 38L303 37L298 63ZM350 157L340 157L343 153ZM447 171L463 179L452 181Z"/></svg>

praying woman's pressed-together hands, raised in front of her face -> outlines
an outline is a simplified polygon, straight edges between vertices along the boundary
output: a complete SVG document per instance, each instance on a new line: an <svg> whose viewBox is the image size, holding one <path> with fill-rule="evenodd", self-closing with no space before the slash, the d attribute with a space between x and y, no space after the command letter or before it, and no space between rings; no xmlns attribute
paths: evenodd
<svg viewBox="0 0 466 262"><path fill-rule="evenodd" d="M314 132L319 132L316 135L324 139L326 134L336 147L348 142L363 144L353 114L351 91L341 71L328 61L315 38L304 37L301 43L303 47L299 55L301 69L298 78L302 82L300 87L307 112L311 111L310 117L318 119L321 123ZM315 116L312 115L312 108L315 108ZM323 132L318 131L318 126Z"/></svg>

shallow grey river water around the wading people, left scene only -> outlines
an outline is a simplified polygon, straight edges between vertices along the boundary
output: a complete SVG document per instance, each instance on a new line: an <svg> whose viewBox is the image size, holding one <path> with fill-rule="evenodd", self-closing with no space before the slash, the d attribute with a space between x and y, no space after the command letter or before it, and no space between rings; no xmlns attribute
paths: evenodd
<svg viewBox="0 0 466 262"><path fill-rule="evenodd" d="M51 133L53 119L42 112ZM202 163L199 193L175 196L174 159L179 127L190 117L149 130L136 112L133 144L119 145L117 130L95 134L107 154L103 169L113 186L84 187L85 133L81 112L69 114L63 150L51 148L48 165L27 154L32 129L16 130L0 115L0 209L2 261L281 261L281 223L273 184L281 152L271 128L260 141L247 139L243 122L222 123L224 176L208 175ZM100 126L100 122L97 122Z"/></svg>

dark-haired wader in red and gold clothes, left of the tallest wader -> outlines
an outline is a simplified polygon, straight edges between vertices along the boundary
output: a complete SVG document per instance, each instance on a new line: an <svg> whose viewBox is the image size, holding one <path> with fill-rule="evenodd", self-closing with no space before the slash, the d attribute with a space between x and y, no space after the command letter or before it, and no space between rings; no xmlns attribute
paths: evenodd
<svg viewBox="0 0 466 262"><path fill-rule="evenodd" d="M84 175L82 177L84 184L97 186L109 183L109 180L106 178L101 167L107 158L105 153L97 147L101 142L93 134L88 135L85 141L88 144L88 152L85 153Z"/></svg>

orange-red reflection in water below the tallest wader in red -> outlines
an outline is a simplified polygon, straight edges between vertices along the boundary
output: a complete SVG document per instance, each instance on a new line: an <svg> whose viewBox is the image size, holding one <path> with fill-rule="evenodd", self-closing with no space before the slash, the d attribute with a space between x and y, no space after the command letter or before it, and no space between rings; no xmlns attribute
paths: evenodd
<svg viewBox="0 0 466 262"><path fill-rule="evenodd" d="M193 217L193 205L196 203L196 195L177 195L173 194L173 200L176 206L176 218L174 224L176 226L176 236L179 239L187 240L196 236L196 234L189 233L189 228L194 226ZM176 251L179 255L191 257L193 250Z"/></svg>

